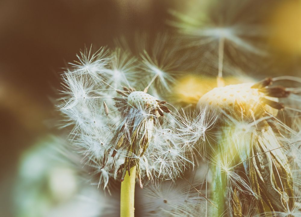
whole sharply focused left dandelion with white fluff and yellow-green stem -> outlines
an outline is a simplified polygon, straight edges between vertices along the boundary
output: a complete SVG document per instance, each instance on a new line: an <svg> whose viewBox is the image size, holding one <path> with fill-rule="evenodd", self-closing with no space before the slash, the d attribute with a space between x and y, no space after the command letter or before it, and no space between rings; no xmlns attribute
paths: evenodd
<svg viewBox="0 0 301 217"><path fill-rule="evenodd" d="M62 126L73 126L70 140L79 148L82 161L93 169L91 175L99 177L95 184L108 189L110 179L122 182L123 216L134 214L135 178L142 188L144 177L160 183L181 176L194 165L196 133L205 135L211 126L206 117L198 117L194 128L199 129L191 135L172 127L172 118L165 117L171 112L167 102L147 93L156 81L168 88L172 75L144 55L131 57L119 48L102 48L93 55L91 49L81 52L81 61L63 74L64 90L58 105L65 117ZM146 76L146 87L138 81L141 70L153 76ZM152 88L155 95L156 90ZM189 145L185 139L191 141Z"/></svg>

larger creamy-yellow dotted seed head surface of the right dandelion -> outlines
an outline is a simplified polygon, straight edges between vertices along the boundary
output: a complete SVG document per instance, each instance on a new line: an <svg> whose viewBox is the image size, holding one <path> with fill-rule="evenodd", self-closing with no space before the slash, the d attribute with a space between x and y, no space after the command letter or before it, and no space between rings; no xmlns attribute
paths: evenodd
<svg viewBox="0 0 301 217"><path fill-rule="evenodd" d="M234 112L234 107L238 104L248 105L250 108L256 108L256 105L261 104L265 110L272 114L277 114L277 110L269 105L262 104L260 98L273 99L277 98L265 96L264 93L259 92L256 88L251 88L254 83L232 84L225 87L216 87L205 93L199 100L198 106L210 105L213 108L226 109Z"/></svg>

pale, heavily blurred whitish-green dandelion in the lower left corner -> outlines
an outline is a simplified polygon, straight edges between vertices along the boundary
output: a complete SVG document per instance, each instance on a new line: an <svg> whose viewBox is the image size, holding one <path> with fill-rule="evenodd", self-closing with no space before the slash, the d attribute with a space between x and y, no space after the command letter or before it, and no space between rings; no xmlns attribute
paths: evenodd
<svg viewBox="0 0 301 217"><path fill-rule="evenodd" d="M13 195L14 215L117 216L119 198L95 191L86 182L87 175L80 156L71 152L65 139L45 136L22 155Z"/></svg>

